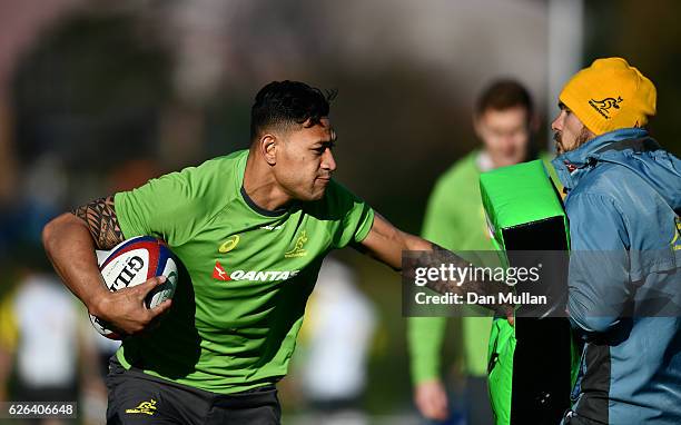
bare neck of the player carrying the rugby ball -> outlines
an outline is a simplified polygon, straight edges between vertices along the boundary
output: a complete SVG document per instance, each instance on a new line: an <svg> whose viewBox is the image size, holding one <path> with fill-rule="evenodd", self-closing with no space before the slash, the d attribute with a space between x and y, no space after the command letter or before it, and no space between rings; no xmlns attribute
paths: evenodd
<svg viewBox="0 0 681 425"><path fill-rule="evenodd" d="M244 171L244 190L258 207L275 211L289 205L290 195L282 189L270 172L269 166L256 160L251 155Z"/></svg>

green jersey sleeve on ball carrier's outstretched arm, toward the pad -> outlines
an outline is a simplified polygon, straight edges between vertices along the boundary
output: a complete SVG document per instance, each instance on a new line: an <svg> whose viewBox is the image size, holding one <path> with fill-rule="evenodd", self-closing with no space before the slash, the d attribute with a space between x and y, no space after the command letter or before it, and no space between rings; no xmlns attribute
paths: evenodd
<svg viewBox="0 0 681 425"><path fill-rule="evenodd" d="M334 235L334 247L343 248L351 243L361 243L372 229L374 209L340 184L334 182L329 189L330 216L340 220Z"/></svg>

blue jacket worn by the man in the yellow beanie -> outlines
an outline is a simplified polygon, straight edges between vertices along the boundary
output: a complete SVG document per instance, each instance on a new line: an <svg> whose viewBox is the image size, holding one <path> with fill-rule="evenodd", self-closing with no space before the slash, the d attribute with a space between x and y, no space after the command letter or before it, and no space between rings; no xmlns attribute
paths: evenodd
<svg viewBox="0 0 681 425"><path fill-rule="evenodd" d="M573 413L681 424L681 161L631 128L553 165L569 191L568 309L585 340Z"/></svg>

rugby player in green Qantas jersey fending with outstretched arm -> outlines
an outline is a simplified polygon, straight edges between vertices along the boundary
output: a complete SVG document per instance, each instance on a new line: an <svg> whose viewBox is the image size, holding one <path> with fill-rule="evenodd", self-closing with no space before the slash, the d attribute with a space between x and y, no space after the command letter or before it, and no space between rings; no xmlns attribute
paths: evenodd
<svg viewBox="0 0 681 425"><path fill-rule="evenodd" d="M329 98L303 82L270 82L251 109L248 150L95 200L45 227L46 250L69 289L131 335L111 359L109 423L278 423L275 384L324 256L353 245L399 270L403 250L445 253L393 227L332 178ZM166 240L187 269L172 308L170 300L144 306L162 278L116 293L102 285L95 249L139 235ZM158 327L137 335L162 314Z"/></svg>

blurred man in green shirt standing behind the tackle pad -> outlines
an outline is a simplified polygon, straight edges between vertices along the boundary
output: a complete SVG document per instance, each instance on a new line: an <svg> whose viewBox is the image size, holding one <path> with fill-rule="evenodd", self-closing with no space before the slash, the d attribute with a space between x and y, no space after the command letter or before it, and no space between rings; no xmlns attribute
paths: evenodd
<svg viewBox="0 0 681 425"><path fill-rule="evenodd" d="M478 97L473 113L475 135L482 142L440 177L428 200L423 237L462 254L474 264L486 256L475 251L494 250L480 196L480 174L499 167L536 159L533 137L537 130L534 101L515 80L496 80ZM547 169L550 158L542 155ZM470 425L492 424L487 396L487 345L491 317L462 317L461 340L465 375L464 414ZM408 346L414 382L414 402L428 419L454 423L441 377L441 350L446 318L408 319ZM462 404L458 403L461 406Z"/></svg>

